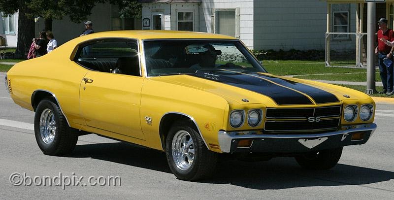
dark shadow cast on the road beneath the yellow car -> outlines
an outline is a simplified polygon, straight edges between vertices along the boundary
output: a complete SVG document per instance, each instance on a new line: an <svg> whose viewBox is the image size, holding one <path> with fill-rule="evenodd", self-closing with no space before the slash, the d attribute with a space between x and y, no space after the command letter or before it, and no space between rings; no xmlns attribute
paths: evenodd
<svg viewBox="0 0 394 200"><path fill-rule="evenodd" d="M171 173L165 153L124 142L77 145L67 157L99 159ZM222 160L215 175L201 183L232 184L251 189L288 189L310 186L364 185L394 179L394 172L338 164L330 170L310 171L293 158L267 162ZM387 189L387 191L394 190Z"/></svg>

